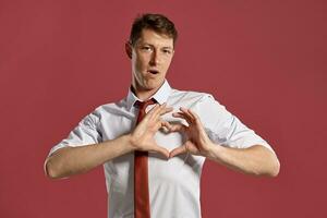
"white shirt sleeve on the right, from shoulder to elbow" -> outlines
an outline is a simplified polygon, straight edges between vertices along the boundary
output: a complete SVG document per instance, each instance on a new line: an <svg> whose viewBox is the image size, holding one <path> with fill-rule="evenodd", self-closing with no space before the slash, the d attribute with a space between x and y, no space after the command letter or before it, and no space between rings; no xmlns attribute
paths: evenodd
<svg viewBox="0 0 327 218"><path fill-rule="evenodd" d="M235 116L226 110L211 95L205 95L196 104L195 112L201 118L209 138L223 146L247 148L263 145L274 153L271 146L244 125Z"/></svg>

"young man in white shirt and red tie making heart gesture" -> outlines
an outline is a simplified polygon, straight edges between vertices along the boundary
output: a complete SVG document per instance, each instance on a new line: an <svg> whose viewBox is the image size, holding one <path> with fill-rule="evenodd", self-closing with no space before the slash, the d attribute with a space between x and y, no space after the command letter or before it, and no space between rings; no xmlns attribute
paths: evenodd
<svg viewBox="0 0 327 218"><path fill-rule="evenodd" d="M46 159L49 178L104 165L110 218L201 217L206 158L255 175L279 172L267 142L211 95L170 87L166 74L177 35L164 15L137 17L125 44L132 62L128 96L86 116Z"/></svg>

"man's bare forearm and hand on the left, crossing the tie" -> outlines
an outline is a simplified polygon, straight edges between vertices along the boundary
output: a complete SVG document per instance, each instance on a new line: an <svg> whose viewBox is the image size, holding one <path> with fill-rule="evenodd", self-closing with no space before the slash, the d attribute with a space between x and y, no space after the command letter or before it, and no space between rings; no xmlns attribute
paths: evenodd
<svg viewBox="0 0 327 218"><path fill-rule="evenodd" d="M166 105L156 105L135 128L126 135L99 144L64 147L55 152L45 161L45 172L52 179L65 178L87 172L116 157L134 150L147 150L169 157L169 152L154 141L154 134L168 123L160 117L172 109Z"/></svg>

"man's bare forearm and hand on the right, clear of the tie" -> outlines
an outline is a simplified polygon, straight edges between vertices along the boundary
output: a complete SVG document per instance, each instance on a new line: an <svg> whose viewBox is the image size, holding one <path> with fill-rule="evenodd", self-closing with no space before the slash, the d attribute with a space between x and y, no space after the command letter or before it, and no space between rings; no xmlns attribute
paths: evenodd
<svg viewBox="0 0 327 218"><path fill-rule="evenodd" d="M207 136L198 116L190 109L181 108L181 112L173 113L173 117L184 119L189 125L174 124L170 125L169 130L185 133L187 140L182 146L173 149L170 157L182 153L191 153L207 157L243 173L268 177L278 174L280 168L278 158L268 148L262 145L253 145L249 148L231 148L217 145Z"/></svg>

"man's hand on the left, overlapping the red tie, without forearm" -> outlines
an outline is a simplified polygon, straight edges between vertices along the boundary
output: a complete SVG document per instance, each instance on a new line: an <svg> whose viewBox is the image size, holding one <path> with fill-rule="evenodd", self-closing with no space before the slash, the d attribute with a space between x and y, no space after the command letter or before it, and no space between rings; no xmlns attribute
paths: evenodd
<svg viewBox="0 0 327 218"><path fill-rule="evenodd" d="M156 152L162 154L167 159L169 158L169 150L159 146L154 138L154 135L160 128L168 128L170 124L161 119L162 114L171 112L172 108L167 107L166 104L156 105L136 125L131 133L131 145L134 150Z"/></svg>

